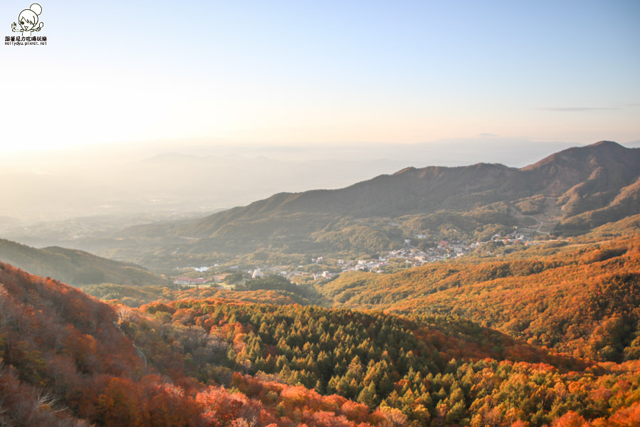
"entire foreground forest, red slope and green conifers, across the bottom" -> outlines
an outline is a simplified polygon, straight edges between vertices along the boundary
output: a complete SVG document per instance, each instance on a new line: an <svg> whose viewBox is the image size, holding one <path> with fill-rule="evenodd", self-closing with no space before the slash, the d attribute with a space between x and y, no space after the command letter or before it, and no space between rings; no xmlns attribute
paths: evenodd
<svg viewBox="0 0 640 427"><path fill-rule="evenodd" d="M137 310L6 264L0 284L7 426L640 421L632 355L585 362L454 317L213 298Z"/></svg>

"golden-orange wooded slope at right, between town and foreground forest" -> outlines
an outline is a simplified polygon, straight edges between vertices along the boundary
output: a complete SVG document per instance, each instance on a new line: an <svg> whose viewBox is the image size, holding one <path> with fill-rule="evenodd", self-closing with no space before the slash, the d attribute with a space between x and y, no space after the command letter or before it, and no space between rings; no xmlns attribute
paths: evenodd
<svg viewBox="0 0 640 427"><path fill-rule="evenodd" d="M577 357L636 359L640 236L629 221L627 237L596 233L497 259L484 252L393 275L348 273L320 290L339 306L455 315Z"/></svg>

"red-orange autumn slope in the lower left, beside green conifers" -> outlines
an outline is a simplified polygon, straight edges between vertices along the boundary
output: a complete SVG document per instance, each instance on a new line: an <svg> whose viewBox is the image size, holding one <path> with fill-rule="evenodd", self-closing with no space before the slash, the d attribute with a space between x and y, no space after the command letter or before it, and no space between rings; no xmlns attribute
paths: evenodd
<svg viewBox="0 0 640 427"><path fill-rule="evenodd" d="M394 425L393 411L234 374L230 343L197 327L145 319L7 264L0 307L3 426Z"/></svg>

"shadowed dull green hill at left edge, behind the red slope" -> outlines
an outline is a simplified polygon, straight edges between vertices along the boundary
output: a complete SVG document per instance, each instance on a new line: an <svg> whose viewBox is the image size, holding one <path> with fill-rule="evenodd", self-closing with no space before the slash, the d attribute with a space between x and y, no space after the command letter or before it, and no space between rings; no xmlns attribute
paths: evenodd
<svg viewBox="0 0 640 427"><path fill-rule="evenodd" d="M52 277L73 286L100 283L146 286L166 283L159 275L138 265L55 246L38 249L0 239L0 260L29 273Z"/></svg>

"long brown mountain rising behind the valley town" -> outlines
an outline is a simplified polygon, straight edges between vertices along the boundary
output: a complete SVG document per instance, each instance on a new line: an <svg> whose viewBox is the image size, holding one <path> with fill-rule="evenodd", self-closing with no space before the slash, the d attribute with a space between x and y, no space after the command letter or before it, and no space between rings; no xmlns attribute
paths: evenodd
<svg viewBox="0 0 640 427"><path fill-rule="evenodd" d="M434 233L453 223L469 239L491 224L526 225L523 219L531 215L549 231L584 233L635 214L639 194L640 149L603 141L521 169L486 163L409 167L343 189L275 194L171 230L142 226L127 234L188 237L193 241L181 245L188 253L384 251L420 231L404 224L416 218L432 223ZM395 218L400 231L372 225L375 218Z"/></svg>

